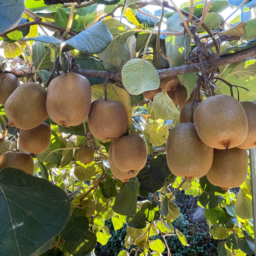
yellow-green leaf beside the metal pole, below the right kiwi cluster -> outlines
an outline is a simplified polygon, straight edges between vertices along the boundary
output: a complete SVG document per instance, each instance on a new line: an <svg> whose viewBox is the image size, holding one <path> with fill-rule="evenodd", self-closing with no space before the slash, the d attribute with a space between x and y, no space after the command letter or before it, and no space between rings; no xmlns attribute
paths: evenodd
<svg viewBox="0 0 256 256"><path fill-rule="evenodd" d="M252 199L245 196L242 189L240 189L236 198L234 210L241 219L252 218Z"/></svg>

